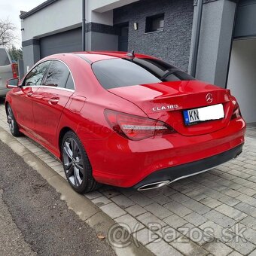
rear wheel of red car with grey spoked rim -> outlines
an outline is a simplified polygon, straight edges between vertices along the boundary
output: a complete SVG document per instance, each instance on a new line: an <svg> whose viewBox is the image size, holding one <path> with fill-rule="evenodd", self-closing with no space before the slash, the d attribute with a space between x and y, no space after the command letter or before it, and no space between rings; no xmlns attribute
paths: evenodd
<svg viewBox="0 0 256 256"><path fill-rule="evenodd" d="M66 178L79 194L96 190L101 186L93 178L93 169L84 146L78 136L69 131L62 139L62 164Z"/></svg>

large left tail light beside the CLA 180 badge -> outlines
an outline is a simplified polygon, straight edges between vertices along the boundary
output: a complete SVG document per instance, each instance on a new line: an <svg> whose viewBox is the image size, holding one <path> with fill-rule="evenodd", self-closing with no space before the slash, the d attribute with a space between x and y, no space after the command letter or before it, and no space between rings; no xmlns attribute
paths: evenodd
<svg viewBox="0 0 256 256"><path fill-rule="evenodd" d="M105 109L105 118L114 132L133 141L175 133L166 123L147 117Z"/></svg>

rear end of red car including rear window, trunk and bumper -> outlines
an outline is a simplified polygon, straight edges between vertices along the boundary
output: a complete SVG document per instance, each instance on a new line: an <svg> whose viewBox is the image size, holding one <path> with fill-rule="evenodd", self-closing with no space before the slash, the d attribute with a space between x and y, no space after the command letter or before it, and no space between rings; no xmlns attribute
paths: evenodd
<svg viewBox="0 0 256 256"><path fill-rule="evenodd" d="M99 148L96 159L104 156L102 163L92 163L99 182L151 189L205 172L242 152L245 121L229 90L157 59L123 60L96 62L93 72L109 93L144 114L105 109L114 133ZM151 74L142 74L141 68Z"/></svg>

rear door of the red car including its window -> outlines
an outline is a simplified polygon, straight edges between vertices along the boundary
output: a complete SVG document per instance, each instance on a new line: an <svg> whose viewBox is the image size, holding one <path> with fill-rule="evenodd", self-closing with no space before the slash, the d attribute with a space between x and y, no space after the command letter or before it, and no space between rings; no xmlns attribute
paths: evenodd
<svg viewBox="0 0 256 256"><path fill-rule="evenodd" d="M69 68L64 62L53 60L44 78L44 85L36 92L33 106L37 139L53 151L58 147L56 130L59 119L74 91Z"/></svg>

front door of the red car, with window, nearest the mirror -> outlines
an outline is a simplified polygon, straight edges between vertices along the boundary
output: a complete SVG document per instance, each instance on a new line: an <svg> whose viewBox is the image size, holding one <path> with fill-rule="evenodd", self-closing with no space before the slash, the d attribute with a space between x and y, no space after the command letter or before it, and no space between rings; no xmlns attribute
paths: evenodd
<svg viewBox="0 0 256 256"><path fill-rule="evenodd" d="M11 105L15 110L17 122L24 130L34 134L35 120L32 99L41 85L50 61L41 62L35 66L24 78L22 87L12 94Z"/></svg>

